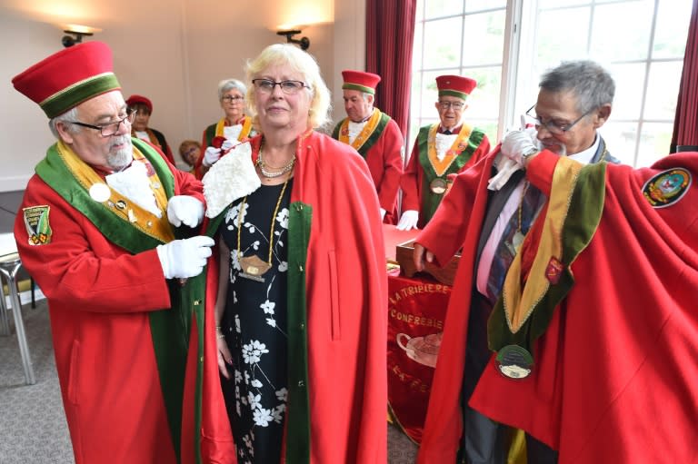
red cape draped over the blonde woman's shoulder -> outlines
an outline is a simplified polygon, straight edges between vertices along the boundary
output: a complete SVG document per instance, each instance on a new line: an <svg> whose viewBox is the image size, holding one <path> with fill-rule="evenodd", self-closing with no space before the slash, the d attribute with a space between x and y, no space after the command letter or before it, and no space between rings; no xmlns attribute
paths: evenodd
<svg viewBox="0 0 698 464"><path fill-rule="evenodd" d="M251 140L254 162L261 140ZM387 273L378 199L364 159L350 146L310 131L299 137L295 156L284 462L384 464ZM209 274L217 269L208 267ZM209 275L208 282L213 308L217 280Z"/></svg>

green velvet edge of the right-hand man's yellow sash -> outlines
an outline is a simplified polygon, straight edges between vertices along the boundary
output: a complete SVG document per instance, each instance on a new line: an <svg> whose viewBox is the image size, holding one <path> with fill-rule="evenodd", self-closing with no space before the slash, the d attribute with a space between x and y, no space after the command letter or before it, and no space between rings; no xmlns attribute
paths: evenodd
<svg viewBox="0 0 698 464"><path fill-rule="evenodd" d="M548 329L555 308L572 290L574 275L570 266L592 241L593 234L601 222L605 177L605 162L587 164L580 171L561 232L563 256L560 261L564 264L564 270L560 280L550 285L541 301L533 308L531 316L516 333L509 330L504 313L504 300L500 296L487 323L490 350L497 351L506 345L519 345L533 353L533 342ZM543 220L543 217L539 217L538 220Z"/></svg>

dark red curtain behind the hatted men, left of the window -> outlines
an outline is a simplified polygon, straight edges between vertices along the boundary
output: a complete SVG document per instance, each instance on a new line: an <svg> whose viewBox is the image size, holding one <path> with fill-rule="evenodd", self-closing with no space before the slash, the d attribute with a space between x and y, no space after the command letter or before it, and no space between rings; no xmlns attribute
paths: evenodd
<svg viewBox="0 0 698 464"><path fill-rule="evenodd" d="M410 120L416 0L366 0L366 71L381 76L375 106L405 140Z"/></svg>

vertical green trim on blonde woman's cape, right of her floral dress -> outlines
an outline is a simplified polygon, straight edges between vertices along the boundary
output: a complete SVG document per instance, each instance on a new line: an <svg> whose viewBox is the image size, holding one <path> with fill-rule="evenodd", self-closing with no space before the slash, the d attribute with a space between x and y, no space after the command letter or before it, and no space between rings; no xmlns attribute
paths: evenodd
<svg viewBox="0 0 698 464"><path fill-rule="evenodd" d="M310 389L305 266L313 207L293 202L288 218L288 424L286 462L310 462Z"/></svg>

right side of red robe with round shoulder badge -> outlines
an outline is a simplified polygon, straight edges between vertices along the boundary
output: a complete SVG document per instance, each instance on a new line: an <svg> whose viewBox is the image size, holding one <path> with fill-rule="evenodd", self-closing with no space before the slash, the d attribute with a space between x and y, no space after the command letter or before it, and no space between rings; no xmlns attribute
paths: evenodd
<svg viewBox="0 0 698 464"><path fill-rule="evenodd" d="M543 152L529 165L543 193L557 162ZM689 181L683 197L674 190L653 207L657 191L646 197L643 186L660 173L665 192L677 178ZM560 464L696 462L696 176L698 153L637 170L606 166L601 221L570 268L572 290L533 346L532 375L509 380L491 363L474 409L558 449ZM522 256L525 270L525 248Z"/></svg>

